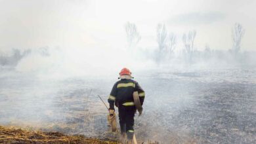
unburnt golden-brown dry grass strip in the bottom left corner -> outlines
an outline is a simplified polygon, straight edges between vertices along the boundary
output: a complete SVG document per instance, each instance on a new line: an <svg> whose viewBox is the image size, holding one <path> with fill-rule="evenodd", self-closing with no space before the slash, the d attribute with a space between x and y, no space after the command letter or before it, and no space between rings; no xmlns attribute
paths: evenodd
<svg viewBox="0 0 256 144"><path fill-rule="evenodd" d="M86 138L83 135L64 135L59 132L41 132L22 130L20 128L0 126L0 143L106 143L117 144L117 141L102 141Z"/></svg>

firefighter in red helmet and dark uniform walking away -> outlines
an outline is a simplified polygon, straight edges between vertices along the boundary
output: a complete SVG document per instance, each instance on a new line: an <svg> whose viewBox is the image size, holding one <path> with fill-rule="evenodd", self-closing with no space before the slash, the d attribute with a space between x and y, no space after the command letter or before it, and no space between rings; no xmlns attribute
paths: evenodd
<svg viewBox="0 0 256 144"><path fill-rule="evenodd" d="M145 92L142 90L138 82L133 81L131 71L127 68L121 69L119 73L119 81L117 81L110 93L108 103L110 103L110 113L115 111L114 104L118 107L119 124L121 135L125 137L127 134L128 141L133 139L134 134L134 117L136 113L133 92L139 93L140 104L143 104Z"/></svg>

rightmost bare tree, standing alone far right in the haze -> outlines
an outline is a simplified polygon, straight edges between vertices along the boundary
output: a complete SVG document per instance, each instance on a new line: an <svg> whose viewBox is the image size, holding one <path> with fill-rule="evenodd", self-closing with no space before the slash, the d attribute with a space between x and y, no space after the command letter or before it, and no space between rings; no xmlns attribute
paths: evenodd
<svg viewBox="0 0 256 144"><path fill-rule="evenodd" d="M234 54L238 54L238 52L241 49L241 40L244 36L244 28L241 24L236 23L233 29L232 38L233 38L233 46L232 46L232 52Z"/></svg>

